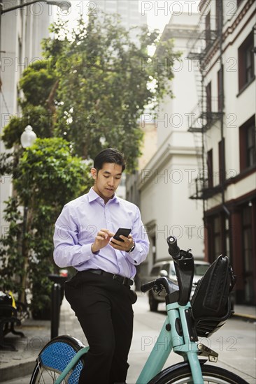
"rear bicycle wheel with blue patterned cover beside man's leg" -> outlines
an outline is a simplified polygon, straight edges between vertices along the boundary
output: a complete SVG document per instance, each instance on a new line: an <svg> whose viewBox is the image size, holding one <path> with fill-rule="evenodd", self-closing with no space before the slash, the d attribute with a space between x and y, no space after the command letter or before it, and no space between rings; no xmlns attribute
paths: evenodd
<svg viewBox="0 0 256 384"><path fill-rule="evenodd" d="M49 341L38 355L30 384L55 383L72 357L83 347L78 339L70 336L58 336ZM62 383L77 384L83 366L81 357Z"/></svg>

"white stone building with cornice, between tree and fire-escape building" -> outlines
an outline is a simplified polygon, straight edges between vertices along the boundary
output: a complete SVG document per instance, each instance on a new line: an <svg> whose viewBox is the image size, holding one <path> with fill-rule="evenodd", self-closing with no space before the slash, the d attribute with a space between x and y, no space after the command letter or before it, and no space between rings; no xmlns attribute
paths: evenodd
<svg viewBox="0 0 256 384"><path fill-rule="evenodd" d="M150 272L155 261L170 258L166 244L169 235L178 238L181 248L190 247L194 256L204 258L202 203L190 200L188 192L201 159L194 136L188 132L189 112L197 104L197 87L192 62L187 59L187 39L197 22L196 14L172 15L161 38L173 38L174 49L183 54L172 68L174 98L162 101L152 121L157 131L155 153L150 153L138 175L141 215L150 237L150 253L141 265L141 276ZM157 50L155 61L159 68L168 65L165 59ZM145 121L149 120L146 114Z"/></svg>

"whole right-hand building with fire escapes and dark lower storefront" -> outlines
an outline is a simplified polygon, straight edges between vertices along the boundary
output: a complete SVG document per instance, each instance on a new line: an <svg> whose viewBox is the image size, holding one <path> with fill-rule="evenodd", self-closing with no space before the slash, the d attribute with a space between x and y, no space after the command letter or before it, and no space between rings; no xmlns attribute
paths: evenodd
<svg viewBox="0 0 256 384"><path fill-rule="evenodd" d="M236 302L256 304L256 3L201 0L199 10L188 57L201 96L189 131L201 134L203 172L190 197L204 203L208 260L229 256Z"/></svg>

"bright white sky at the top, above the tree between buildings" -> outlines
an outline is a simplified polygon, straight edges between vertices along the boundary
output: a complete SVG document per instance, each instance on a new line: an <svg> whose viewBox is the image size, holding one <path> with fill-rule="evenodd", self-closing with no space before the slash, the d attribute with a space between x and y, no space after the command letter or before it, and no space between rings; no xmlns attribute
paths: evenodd
<svg viewBox="0 0 256 384"><path fill-rule="evenodd" d="M94 8L96 3L94 1L76 1L70 0L72 3L69 15L64 16L59 8L55 8L55 17L59 14L62 19L69 20L69 24L72 27L76 24L80 13L87 15L88 10ZM104 1L104 0L101 0ZM122 0L120 0L122 1ZM133 1L133 0L129 0ZM160 32L164 30L164 26L169 22L172 14L179 15L182 12L197 12L199 0L159 0L159 1L138 1L138 12L145 14L148 20L148 26L150 29L159 29Z"/></svg>

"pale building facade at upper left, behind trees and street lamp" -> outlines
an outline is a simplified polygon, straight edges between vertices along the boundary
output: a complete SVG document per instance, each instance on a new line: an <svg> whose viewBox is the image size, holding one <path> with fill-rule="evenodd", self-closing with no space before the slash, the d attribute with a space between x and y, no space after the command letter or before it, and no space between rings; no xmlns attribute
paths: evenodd
<svg viewBox="0 0 256 384"><path fill-rule="evenodd" d="M22 3L23 1L3 0L3 10ZM53 6L35 3L0 16L0 134L10 117L20 115L17 100L22 94L18 83L24 69L33 61L41 59L41 40L49 36L48 28L53 20L53 13ZM6 152L1 140L0 152ZM6 230L3 221L4 201L13 193L10 177L1 177L0 190L1 235L3 235Z"/></svg>

